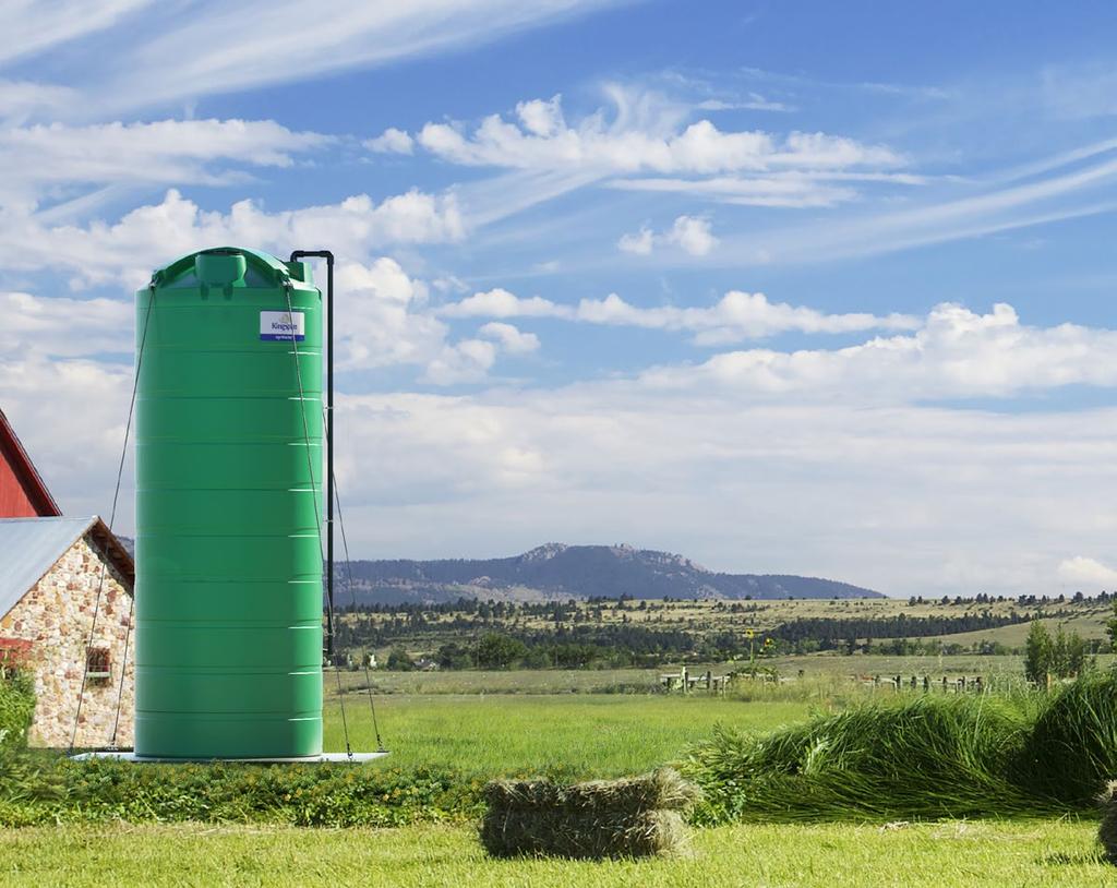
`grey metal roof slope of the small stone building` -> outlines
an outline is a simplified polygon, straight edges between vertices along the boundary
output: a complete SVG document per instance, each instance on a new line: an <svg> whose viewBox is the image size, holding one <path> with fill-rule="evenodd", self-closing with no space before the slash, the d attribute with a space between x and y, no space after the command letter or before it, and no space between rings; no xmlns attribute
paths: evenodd
<svg viewBox="0 0 1117 888"><path fill-rule="evenodd" d="M0 518L0 617L99 519Z"/></svg>

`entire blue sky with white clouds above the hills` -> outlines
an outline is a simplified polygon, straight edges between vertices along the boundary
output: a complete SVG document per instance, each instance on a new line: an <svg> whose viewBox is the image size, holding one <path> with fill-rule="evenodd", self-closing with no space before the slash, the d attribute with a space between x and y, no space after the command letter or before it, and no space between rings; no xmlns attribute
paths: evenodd
<svg viewBox="0 0 1117 888"><path fill-rule="evenodd" d="M1109 4L319 6L7 4L0 407L67 510L131 289L328 247L362 556L1117 585Z"/></svg>

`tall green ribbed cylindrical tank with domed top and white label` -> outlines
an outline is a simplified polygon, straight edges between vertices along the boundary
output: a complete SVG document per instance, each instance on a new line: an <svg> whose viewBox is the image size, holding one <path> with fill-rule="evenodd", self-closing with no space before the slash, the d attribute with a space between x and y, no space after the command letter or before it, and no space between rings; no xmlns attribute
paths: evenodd
<svg viewBox="0 0 1117 888"><path fill-rule="evenodd" d="M141 343L135 752L316 755L322 295L300 262L206 250L136 294Z"/></svg>

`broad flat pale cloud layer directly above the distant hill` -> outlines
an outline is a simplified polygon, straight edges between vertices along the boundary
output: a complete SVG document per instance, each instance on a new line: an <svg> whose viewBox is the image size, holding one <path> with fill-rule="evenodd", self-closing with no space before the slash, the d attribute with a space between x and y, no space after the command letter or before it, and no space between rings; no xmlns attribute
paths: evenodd
<svg viewBox="0 0 1117 888"><path fill-rule="evenodd" d="M715 570L1015 595L1057 592L1060 552L1105 551L1117 532L1097 509L1099 485L1117 481L1115 410L758 403L605 381L353 395L340 411L351 543L363 552L624 538ZM383 470L361 470L370 461Z"/></svg>

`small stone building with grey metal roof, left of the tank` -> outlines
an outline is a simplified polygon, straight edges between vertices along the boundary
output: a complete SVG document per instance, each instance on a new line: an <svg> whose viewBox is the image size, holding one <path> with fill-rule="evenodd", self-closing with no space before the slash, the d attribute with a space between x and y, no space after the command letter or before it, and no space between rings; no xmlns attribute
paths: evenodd
<svg viewBox="0 0 1117 888"><path fill-rule="evenodd" d="M32 745L132 746L134 583L101 518L0 518L0 657L34 671Z"/></svg>

